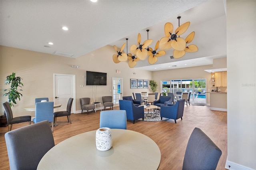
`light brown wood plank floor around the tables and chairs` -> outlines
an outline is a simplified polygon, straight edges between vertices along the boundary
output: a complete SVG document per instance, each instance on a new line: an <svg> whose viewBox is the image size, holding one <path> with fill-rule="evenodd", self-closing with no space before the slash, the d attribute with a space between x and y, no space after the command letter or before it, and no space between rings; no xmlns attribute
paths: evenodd
<svg viewBox="0 0 256 170"><path fill-rule="evenodd" d="M119 107L114 107L119 109ZM58 117L58 126L54 127L55 144L82 132L97 130L100 125L100 111L87 114L72 114L69 124L66 117ZM24 127L28 123L14 124L12 129ZM217 170L224 170L227 158L227 112L211 111L208 106L190 105L184 107L183 120L160 122L131 121L127 129L149 136L156 142L161 151L159 170L181 170L183 158L192 130L201 128L222 150ZM9 169L9 160L4 134L8 127L0 128L0 169ZM148 160L150 161L150 160ZM145 163L145 162L144 162Z"/></svg>

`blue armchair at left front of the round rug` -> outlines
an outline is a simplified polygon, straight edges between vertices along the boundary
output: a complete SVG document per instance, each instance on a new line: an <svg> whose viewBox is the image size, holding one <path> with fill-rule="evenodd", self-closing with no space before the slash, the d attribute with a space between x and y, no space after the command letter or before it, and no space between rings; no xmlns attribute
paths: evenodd
<svg viewBox="0 0 256 170"><path fill-rule="evenodd" d="M144 107L134 106L132 101L128 100L119 100L119 108L120 110L126 111L127 119L131 120L134 124L135 120L142 118L144 120Z"/></svg>

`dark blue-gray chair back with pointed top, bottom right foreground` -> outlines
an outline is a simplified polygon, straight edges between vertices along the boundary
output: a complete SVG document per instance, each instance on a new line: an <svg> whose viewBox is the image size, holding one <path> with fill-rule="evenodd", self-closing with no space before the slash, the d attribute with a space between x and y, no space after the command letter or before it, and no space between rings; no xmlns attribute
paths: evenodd
<svg viewBox="0 0 256 170"><path fill-rule="evenodd" d="M194 128L188 140L182 170L215 170L222 152L200 129Z"/></svg>

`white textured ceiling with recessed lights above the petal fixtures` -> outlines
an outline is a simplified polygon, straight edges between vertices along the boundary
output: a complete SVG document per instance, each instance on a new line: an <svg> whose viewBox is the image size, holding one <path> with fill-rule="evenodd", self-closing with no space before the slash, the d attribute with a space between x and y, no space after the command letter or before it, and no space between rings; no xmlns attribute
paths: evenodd
<svg viewBox="0 0 256 170"><path fill-rule="evenodd" d="M192 43L199 50L174 62L226 57L226 16L221 0L1 0L0 10L0 43L4 46L51 54L62 52L76 58L105 45L121 47L125 38L129 38L129 50L130 45L136 44L139 32L142 41L146 40L149 29L154 48L164 36L164 24L171 22L176 29L177 16L182 16L181 24L190 21L184 36L195 31ZM62 26L69 30L63 31ZM172 51L166 51L166 56L159 57L153 66L170 63L170 55ZM146 65L147 61L141 61L136 67L152 70Z"/></svg>

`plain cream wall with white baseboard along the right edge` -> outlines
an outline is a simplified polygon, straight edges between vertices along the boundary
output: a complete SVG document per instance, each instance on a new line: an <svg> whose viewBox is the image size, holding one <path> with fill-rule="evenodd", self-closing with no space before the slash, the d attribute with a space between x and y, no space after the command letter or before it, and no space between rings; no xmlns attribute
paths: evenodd
<svg viewBox="0 0 256 170"><path fill-rule="evenodd" d="M256 169L256 1L227 0L228 158ZM237 166L237 167L236 167Z"/></svg>

